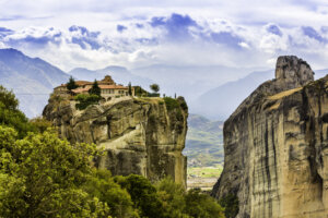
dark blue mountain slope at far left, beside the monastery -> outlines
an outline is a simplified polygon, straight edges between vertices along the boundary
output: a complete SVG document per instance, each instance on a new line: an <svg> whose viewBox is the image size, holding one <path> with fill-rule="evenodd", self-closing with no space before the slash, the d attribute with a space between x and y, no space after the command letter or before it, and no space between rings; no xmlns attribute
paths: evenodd
<svg viewBox="0 0 328 218"><path fill-rule="evenodd" d="M30 118L39 116L52 88L69 75L50 63L15 49L0 49L0 84L12 89Z"/></svg>

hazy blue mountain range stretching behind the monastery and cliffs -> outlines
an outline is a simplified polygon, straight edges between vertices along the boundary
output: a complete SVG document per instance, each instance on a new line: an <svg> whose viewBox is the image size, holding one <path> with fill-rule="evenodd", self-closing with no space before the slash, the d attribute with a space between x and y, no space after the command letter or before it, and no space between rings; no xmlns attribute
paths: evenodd
<svg viewBox="0 0 328 218"><path fill-rule="evenodd" d="M316 78L327 70L316 71ZM99 70L83 68L65 72L39 59L30 58L15 49L0 49L0 84L12 89L20 100L20 108L30 118L39 116L52 88L66 83L70 75L75 80L102 80L106 74L119 83L141 85L149 89L160 84L166 96L186 97L191 113L212 120L225 120L254 88L274 77L273 70L247 74L247 69L229 66L150 65L138 69L110 65ZM231 76L233 74L233 76ZM243 77L243 75L246 75ZM230 81L235 77L235 81ZM215 85L216 84L216 85Z"/></svg>

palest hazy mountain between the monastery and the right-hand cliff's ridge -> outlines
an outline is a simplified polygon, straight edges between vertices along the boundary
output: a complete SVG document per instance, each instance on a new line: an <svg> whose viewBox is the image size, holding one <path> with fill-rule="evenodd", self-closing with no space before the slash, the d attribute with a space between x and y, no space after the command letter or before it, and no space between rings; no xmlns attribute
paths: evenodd
<svg viewBox="0 0 328 218"><path fill-rule="evenodd" d="M131 69L136 75L148 77L160 84L161 93L166 96L184 96L187 102L201 94L229 81L235 81L248 73L249 69L224 65L165 65L155 64Z"/></svg>

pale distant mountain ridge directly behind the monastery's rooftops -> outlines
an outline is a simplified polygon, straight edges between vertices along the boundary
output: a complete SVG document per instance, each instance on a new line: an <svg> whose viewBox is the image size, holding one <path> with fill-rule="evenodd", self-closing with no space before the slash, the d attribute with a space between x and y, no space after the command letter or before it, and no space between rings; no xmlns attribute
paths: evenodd
<svg viewBox="0 0 328 218"><path fill-rule="evenodd" d="M83 81L103 80L105 75L110 75L116 83L128 85L131 82L132 85L141 85L148 88L153 81L132 74L124 66L110 65L99 70L87 70L83 68L77 68L69 72L74 78Z"/></svg>

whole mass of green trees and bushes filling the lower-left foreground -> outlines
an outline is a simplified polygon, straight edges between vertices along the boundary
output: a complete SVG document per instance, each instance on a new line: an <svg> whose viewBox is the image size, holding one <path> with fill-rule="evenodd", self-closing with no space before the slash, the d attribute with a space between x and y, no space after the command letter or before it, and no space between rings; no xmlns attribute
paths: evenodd
<svg viewBox="0 0 328 218"><path fill-rule="evenodd" d="M94 144L70 144L43 119L30 122L4 88L0 104L0 217L224 217L209 195L169 178L152 184L94 168Z"/></svg>

